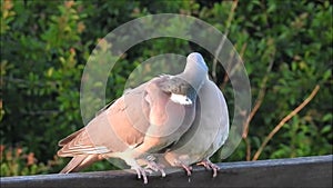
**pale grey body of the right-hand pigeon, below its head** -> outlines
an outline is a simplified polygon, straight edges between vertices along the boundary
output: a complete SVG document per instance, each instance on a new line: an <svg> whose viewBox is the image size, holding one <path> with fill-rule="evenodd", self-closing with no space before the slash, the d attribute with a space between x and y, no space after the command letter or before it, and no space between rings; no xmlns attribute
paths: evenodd
<svg viewBox="0 0 333 188"><path fill-rule="evenodd" d="M205 63L198 55L195 61ZM190 165L203 165L216 176L219 167L209 158L224 145L229 136L229 112L223 93L206 76L198 92L195 119L190 129L171 146L167 152L158 156L159 164L165 167L182 167L191 175Z"/></svg>

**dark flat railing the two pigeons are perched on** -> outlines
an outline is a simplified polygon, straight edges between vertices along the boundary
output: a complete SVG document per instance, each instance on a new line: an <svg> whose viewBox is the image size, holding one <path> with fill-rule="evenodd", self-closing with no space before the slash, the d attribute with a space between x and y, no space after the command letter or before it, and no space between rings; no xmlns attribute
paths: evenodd
<svg viewBox="0 0 333 188"><path fill-rule="evenodd" d="M169 169L167 177L158 174L143 185L135 174L125 170L38 175L1 178L7 187L332 187L333 156L301 157L218 164L218 177L195 167L189 178L181 169ZM173 171L173 172L170 172Z"/></svg>

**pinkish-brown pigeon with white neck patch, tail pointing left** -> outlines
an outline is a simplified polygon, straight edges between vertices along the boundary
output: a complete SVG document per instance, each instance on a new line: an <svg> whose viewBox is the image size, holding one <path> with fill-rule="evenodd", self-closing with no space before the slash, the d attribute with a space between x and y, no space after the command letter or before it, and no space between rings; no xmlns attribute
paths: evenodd
<svg viewBox="0 0 333 188"><path fill-rule="evenodd" d="M104 158L121 158L147 184L147 169L137 159L176 142L193 123L196 92L208 72L198 56L188 56L183 72L160 76L127 91L84 128L60 140L58 156L72 157L61 172L78 171Z"/></svg>

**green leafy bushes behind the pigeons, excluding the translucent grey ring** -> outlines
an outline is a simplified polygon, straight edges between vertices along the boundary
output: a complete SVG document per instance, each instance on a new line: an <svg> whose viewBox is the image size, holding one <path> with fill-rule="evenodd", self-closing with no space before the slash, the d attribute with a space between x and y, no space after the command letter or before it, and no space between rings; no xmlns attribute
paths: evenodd
<svg viewBox="0 0 333 188"><path fill-rule="evenodd" d="M321 87L317 95L272 138L260 159L332 154L330 1L1 0L1 176L61 169L63 160L54 157L57 142L83 127L80 81L92 49L127 21L167 12L196 17L228 33L244 60L253 105L260 91L265 91L250 122L250 145L242 141L226 160L252 158L269 132L315 85ZM141 61L191 51L202 52L212 67L212 55L180 39L154 39L131 48L110 73L108 100L121 96L129 73ZM223 88L222 67L216 75ZM223 92L229 99L232 88ZM220 161L218 154L213 161ZM90 169L110 168L104 162Z"/></svg>

